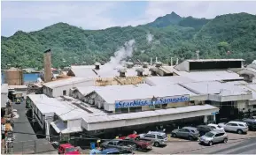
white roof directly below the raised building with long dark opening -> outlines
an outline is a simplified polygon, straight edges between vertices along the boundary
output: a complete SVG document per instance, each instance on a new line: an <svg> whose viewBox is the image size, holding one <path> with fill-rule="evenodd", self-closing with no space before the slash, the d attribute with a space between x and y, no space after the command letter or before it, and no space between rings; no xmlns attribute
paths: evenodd
<svg viewBox="0 0 256 155"><path fill-rule="evenodd" d="M240 80L244 77L239 77L239 75L231 70L213 70L213 71L176 71L182 77L188 77L194 81L221 81L221 80Z"/></svg>

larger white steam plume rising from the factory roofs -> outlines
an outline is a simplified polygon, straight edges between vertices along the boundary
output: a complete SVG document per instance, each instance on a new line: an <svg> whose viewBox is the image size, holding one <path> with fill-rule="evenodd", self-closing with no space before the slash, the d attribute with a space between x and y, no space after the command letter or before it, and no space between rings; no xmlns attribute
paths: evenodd
<svg viewBox="0 0 256 155"><path fill-rule="evenodd" d="M105 63L105 69L112 70L122 65L127 57L131 57L133 55L135 43L135 40L125 42L124 46L116 51L114 56L111 56L110 62Z"/></svg>

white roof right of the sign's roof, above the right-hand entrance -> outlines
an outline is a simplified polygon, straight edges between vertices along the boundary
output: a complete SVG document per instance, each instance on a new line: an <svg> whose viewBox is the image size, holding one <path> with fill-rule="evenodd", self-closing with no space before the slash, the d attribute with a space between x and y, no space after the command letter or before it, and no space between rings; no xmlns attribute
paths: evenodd
<svg viewBox="0 0 256 155"><path fill-rule="evenodd" d="M192 92L200 94L220 94L222 96L227 95L241 95L248 94L246 90L238 87L237 85L231 85L227 83L221 83L219 81L204 81L204 82L194 82L194 83L184 83L180 84Z"/></svg>

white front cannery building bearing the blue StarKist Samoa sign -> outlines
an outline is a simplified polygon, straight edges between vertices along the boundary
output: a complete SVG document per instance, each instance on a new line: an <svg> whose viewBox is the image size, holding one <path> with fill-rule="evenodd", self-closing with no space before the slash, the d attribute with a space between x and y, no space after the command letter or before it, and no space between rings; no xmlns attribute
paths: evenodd
<svg viewBox="0 0 256 155"><path fill-rule="evenodd" d="M219 111L200 102L203 96L180 85L112 85L89 89L81 92L85 95L82 99L34 94L28 95L28 100L46 133L52 127L58 134L68 136L76 132L112 132L124 127L140 129L181 119L208 122L214 121L211 115Z"/></svg>

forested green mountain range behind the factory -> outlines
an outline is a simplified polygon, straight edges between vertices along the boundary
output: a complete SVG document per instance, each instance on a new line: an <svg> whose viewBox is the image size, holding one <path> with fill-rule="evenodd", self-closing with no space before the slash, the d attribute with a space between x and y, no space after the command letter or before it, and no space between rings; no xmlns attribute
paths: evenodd
<svg viewBox="0 0 256 155"><path fill-rule="evenodd" d="M11 37L1 37L2 68L12 66L43 68L43 51L52 50L54 67L73 63L108 62L126 41L135 40L132 60L150 61L158 57L170 63L170 57L180 60L196 58L256 59L256 16L247 13L228 14L213 19L181 18L175 12L143 26L111 27L105 30L83 30L58 23L40 31L18 31ZM151 42L147 34L153 35ZM230 51L228 55L228 51Z"/></svg>

